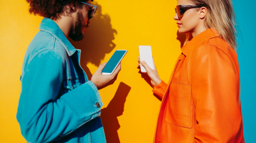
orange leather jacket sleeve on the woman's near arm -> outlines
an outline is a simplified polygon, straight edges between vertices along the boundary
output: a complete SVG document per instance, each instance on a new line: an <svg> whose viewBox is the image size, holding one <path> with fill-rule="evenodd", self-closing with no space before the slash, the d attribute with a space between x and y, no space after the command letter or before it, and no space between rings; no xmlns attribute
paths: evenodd
<svg viewBox="0 0 256 143"><path fill-rule="evenodd" d="M204 45L194 54L194 143L235 143L243 132L238 67L215 45Z"/></svg>

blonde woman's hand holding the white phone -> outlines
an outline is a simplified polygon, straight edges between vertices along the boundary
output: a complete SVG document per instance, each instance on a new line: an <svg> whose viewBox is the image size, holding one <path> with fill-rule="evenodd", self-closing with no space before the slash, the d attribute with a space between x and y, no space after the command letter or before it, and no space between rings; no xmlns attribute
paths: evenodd
<svg viewBox="0 0 256 143"><path fill-rule="evenodd" d="M162 80L160 79L156 71L154 59L153 59L153 66L154 66L153 70L147 65L147 63L143 59L140 59L140 57L138 57L138 62L139 62L138 63L139 66L143 65L145 67L147 71L146 74L148 74L149 78L151 79L151 84L153 86L156 86L161 83Z"/></svg>

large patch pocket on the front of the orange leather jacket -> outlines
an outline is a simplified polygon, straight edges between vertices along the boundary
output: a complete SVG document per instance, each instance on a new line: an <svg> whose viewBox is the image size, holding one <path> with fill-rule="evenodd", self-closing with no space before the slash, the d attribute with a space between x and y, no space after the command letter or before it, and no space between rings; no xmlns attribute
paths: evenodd
<svg viewBox="0 0 256 143"><path fill-rule="evenodd" d="M171 82L165 121L177 126L191 128L191 85Z"/></svg>

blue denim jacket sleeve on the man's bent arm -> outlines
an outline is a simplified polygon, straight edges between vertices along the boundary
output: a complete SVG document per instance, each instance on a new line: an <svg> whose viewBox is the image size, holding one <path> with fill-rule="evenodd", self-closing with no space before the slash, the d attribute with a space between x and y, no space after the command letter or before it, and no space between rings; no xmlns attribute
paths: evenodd
<svg viewBox="0 0 256 143"><path fill-rule="evenodd" d="M103 105L101 97L91 81L58 98L63 61L59 53L48 49L37 54L23 73L17 120L29 142L61 139L101 114L96 106Z"/></svg>

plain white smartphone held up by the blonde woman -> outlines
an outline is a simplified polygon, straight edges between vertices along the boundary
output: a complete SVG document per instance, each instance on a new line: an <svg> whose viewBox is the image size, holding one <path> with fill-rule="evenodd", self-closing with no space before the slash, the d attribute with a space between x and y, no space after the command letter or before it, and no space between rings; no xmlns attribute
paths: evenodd
<svg viewBox="0 0 256 143"><path fill-rule="evenodd" d="M140 52L140 59L143 59L148 66L153 70L153 57L152 57L152 50L150 45L140 45L139 46ZM141 65L141 72L147 72L145 67Z"/></svg>

